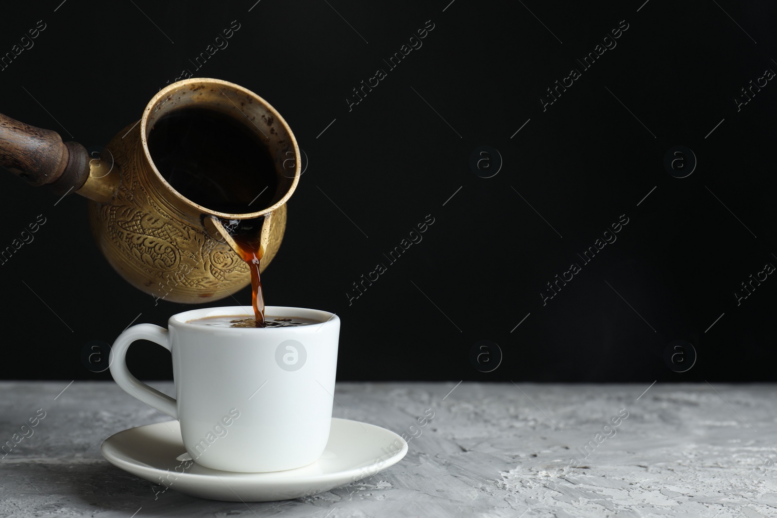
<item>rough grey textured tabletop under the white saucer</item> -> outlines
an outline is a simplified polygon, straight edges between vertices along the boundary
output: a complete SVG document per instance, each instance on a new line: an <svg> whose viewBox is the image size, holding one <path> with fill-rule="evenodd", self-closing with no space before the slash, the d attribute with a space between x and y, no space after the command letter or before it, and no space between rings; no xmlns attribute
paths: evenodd
<svg viewBox="0 0 777 518"><path fill-rule="evenodd" d="M0 383L2 443L46 412L0 459L0 516L777 516L774 385L338 384L336 417L397 433L434 418L387 471L245 505L155 497L99 446L159 416L113 383L65 385Z"/></svg>

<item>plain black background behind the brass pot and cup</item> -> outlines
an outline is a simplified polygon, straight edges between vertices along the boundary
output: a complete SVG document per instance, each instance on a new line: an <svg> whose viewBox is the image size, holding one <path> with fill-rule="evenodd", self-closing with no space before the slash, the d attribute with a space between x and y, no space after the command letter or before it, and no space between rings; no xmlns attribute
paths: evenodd
<svg viewBox="0 0 777 518"><path fill-rule="evenodd" d="M340 315L340 380L777 379L777 279L740 305L733 295L777 265L777 85L734 101L777 70L775 5L448 2L3 5L0 55L38 20L46 29L0 71L0 112L99 148L184 68L267 99L308 157L263 274L267 301ZM232 20L228 47L195 71L189 59ZM423 46L388 70L427 20ZM622 20L617 46L582 70ZM387 77L349 111L378 68ZM571 68L581 77L543 111ZM482 145L503 159L487 179L469 165ZM664 168L677 145L698 159L682 179ZM46 217L0 265L0 377L110 379L82 362L88 344L191 308L155 305L110 269L81 197L5 173L0 207L3 249ZM383 254L428 214L423 241L389 265ZM617 241L583 265L577 254L622 214ZM349 304L378 262L388 271ZM543 305L572 262L582 271ZM235 298L249 304L249 290ZM490 373L470 361L484 339L503 353ZM677 339L698 353L684 373L664 362ZM172 376L159 346L139 342L129 360L138 377Z"/></svg>

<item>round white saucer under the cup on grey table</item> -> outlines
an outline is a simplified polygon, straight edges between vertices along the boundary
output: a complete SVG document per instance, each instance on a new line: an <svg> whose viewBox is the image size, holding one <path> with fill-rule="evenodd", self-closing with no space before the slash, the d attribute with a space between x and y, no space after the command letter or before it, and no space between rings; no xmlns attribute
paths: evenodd
<svg viewBox="0 0 777 518"><path fill-rule="evenodd" d="M389 448L392 443L401 444L401 450ZM168 487L204 499L269 502L315 495L375 475L399 462L407 443L380 426L333 418L329 442L318 461L267 473L219 471L184 461L191 457L183 447L178 421L114 433L100 449L111 464L159 484L160 491Z"/></svg>

